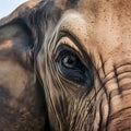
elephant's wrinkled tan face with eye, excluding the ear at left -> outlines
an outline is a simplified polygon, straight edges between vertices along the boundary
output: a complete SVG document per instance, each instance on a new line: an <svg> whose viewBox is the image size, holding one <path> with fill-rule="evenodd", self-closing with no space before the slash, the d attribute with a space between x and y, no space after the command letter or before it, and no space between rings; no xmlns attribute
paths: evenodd
<svg viewBox="0 0 131 131"><path fill-rule="evenodd" d="M130 7L130 0L45 5L36 67L52 130L131 130Z"/></svg>

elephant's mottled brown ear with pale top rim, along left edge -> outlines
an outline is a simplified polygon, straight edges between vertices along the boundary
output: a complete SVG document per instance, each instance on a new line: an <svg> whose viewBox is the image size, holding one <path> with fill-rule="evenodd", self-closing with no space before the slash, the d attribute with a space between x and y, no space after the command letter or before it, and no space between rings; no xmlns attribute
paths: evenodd
<svg viewBox="0 0 131 131"><path fill-rule="evenodd" d="M37 131L47 128L44 90L35 75L31 55L34 43L32 31L19 17L37 3L38 0L28 1L0 21L1 130Z"/></svg>

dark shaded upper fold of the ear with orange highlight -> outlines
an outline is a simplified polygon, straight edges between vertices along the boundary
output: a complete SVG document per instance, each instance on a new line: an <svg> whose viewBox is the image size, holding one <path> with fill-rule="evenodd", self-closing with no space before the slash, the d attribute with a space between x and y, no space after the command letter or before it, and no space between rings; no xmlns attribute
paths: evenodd
<svg viewBox="0 0 131 131"><path fill-rule="evenodd" d="M22 20L16 19L0 26L0 57L9 56L12 59L17 59L27 68L32 45L32 33Z"/></svg>

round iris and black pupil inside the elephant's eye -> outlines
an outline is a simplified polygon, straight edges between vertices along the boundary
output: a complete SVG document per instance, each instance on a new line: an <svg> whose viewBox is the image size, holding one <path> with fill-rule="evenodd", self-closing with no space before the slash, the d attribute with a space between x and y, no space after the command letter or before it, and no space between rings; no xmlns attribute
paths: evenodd
<svg viewBox="0 0 131 131"><path fill-rule="evenodd" d="M67 67L67 68L74 68L76 63L76 58L74 56L67 56L64 59L63 59L63 64Z"/></svg>

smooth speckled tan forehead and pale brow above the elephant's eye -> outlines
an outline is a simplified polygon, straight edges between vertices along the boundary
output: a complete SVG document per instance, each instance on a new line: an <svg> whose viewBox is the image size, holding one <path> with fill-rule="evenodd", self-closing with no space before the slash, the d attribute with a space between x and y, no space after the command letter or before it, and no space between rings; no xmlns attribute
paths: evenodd
<svg viewBox="0 0 131 131"><path fill-rule="evenodd" d="M94 58L105 59L131 52L131 2L126 0L80 0L61 19L61 28L71 32ZM86 2L86 3L85 3ZM74 11L75 10L75 11Z"/></svg>

